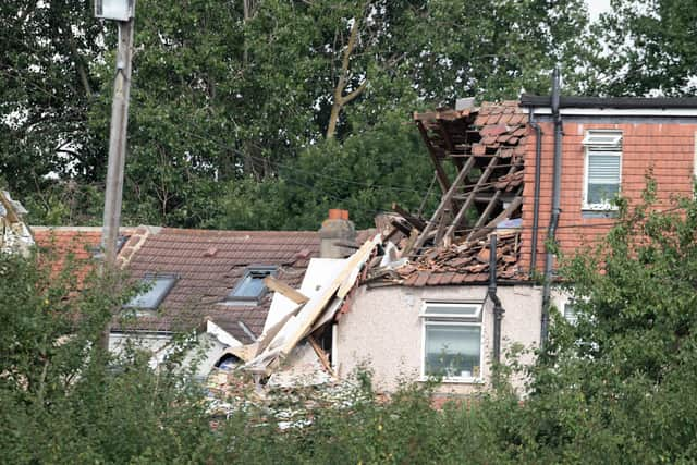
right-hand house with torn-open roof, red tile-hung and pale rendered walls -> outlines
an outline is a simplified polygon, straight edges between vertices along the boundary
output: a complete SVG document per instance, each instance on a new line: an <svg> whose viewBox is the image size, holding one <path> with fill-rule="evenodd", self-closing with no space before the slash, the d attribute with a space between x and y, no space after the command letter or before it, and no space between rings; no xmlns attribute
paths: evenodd
<svg viewBox="0 0 697 465"><path fill-rule="evenodd" d="M335 278L311 297L301 292L272 331L239 352L261 382L292 369L307 341L319 345L315 366L344 378L367 363L380 390L430 375L443 377L447 394L486 388L512 344L543 344L552 305L573 317L553 289L547 240L564 253L592 244L616 217L611 199L640 201L649 171L657 208L693 195L697 99L555 90L414 122L441 188L436 211L419 218L394 205L379 234L328 273Z"/></svg>

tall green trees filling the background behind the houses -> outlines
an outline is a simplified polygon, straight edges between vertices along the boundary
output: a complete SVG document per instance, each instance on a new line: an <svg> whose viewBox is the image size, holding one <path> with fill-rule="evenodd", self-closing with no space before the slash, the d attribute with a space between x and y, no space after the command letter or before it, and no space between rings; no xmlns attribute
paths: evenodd
<svg viewBox="0 0 697 465"><path fill-rule="evenodd" d="M345 91L367 85L342 109L330 144L354 19ZM93 193L106 175L114 24L75 0L14 2L0 20L0 171L38 207L33 222L99 222ZM413 110L455 97L545 91L555 61L576 68L585 24L580 0L139 1L124 222L316 229L339 203L362 225L391 201L416 208L428 157L396 120L408 124Z"/></svg>

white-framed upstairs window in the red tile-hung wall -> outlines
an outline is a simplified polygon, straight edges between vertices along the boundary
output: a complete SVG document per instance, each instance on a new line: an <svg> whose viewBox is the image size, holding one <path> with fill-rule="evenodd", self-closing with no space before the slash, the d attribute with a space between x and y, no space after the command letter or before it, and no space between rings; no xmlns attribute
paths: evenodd
<svg viewBox="0 0 697 465"><path fill-rule="evenodd" d="M622 133L588 131L584 176L585 209L609 209L610 200L620 193L622 174Z"/></svg>

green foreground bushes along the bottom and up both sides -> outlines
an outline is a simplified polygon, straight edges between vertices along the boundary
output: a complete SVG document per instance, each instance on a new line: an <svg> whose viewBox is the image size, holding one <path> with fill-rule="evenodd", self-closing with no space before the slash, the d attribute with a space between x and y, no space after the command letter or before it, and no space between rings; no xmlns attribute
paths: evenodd
<svg viewBox="0 0 697 465"><path fill-rule="evenodd" d="M3 458L694 463L697 201L656 211L655 192L649 181L644 204L620 200L607 241L565 261L578 322L553 311L551 339L534 367L498 366L492 391L441 409L431 405L436 383L404 384L386 401L365 372L346 402L322 407L311 391L294 393L286 408L316 407L290 426L253 404L212 418L195 383L173 366L152 371L138 352L105 369L103 354L90 347L105 308L127 297L99 292L98 283L75 294L72 274L50 278L32 260L2 256ZM529 379L523 400L508 381L519 375Z"/></svg>

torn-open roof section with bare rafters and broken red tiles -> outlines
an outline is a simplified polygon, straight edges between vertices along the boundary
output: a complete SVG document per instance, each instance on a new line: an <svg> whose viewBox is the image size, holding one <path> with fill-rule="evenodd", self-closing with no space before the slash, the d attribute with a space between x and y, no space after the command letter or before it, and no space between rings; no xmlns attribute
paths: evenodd
<svg viewBox="0 0 697 465"><path fill-rule="evenodd" d="M484 102L478 108L415 113L414 121L436 168L441 199L430 219L396 204L394 213L380 218L378 229L396 245L395 258L408 262L374 267L368 282L408 286L487 282L488 235L497 230L498 277L527 279L517 264L529 129L524 109L517 101Z"/></svg>

